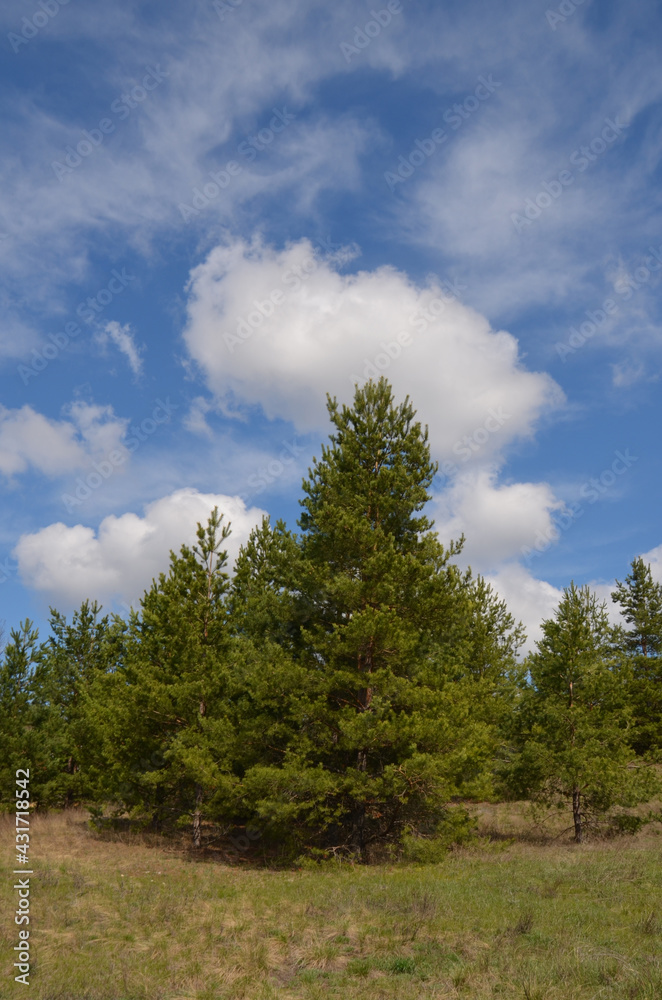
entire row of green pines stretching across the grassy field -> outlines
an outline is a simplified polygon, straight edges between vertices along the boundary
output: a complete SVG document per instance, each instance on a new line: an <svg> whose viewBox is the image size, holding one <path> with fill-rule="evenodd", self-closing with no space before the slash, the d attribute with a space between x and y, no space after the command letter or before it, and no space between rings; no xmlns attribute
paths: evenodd
<svg viewBox="0 0 662 1000"><path fill-rule="evenodd" d="M215 510L128 620L85 602L45 642L11 632L4 806L29 767L38 809L187 827L195 847L249 830L284 857L443 841L471 798L561 804L577 840L634 828L622 807L659 790L662 744L650 567L617 584L619 628L571 584L522 661L521 625L423 513L436 464L409 400L381 379L328 409L297 534L265 519L230 577Z"/></svg>

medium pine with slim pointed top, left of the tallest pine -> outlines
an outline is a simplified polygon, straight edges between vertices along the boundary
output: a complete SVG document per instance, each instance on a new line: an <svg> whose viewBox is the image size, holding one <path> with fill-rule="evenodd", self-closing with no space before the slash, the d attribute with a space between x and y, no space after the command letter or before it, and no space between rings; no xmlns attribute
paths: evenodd
<svg viewBox="0 0 662 1000"><path fill-rule="evenodd" d="M227 692L227 553L215 508L197 544L171 553L129 623L125 661L99 680L94 724L106 792L156 828L184 821L193 846L220 789L231 787Z"/></svg>

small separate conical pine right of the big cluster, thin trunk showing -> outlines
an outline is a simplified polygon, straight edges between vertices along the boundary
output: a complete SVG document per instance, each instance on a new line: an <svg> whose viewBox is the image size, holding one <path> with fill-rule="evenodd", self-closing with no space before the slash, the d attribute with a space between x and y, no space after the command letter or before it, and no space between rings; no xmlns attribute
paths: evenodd
<svg viewBox="0 0 662 1000"><path fill-rule="evenodd" d="M614 805L650 797L655 780L630 749L626 691L614 671L605 605L588 587L567 588L529 658L530 688L516 715L517 746L504 773L511 789L569 803L575 840Z"/></svg>

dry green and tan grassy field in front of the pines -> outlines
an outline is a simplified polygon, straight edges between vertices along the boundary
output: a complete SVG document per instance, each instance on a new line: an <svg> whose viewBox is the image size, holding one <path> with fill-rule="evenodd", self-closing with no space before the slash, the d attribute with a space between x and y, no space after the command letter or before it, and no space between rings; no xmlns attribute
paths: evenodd
<svg viewBox="0 0 662 1000"><path fill-rule="evenodd" d="M13 982L3 852L0 996L662 998L659 824L577 847L536 840L516 807L480 821L493 840L436 865L272 871L103 839L81 813L37 816L31 984ZM0 836L11 843L9 817Z"/></svg>

